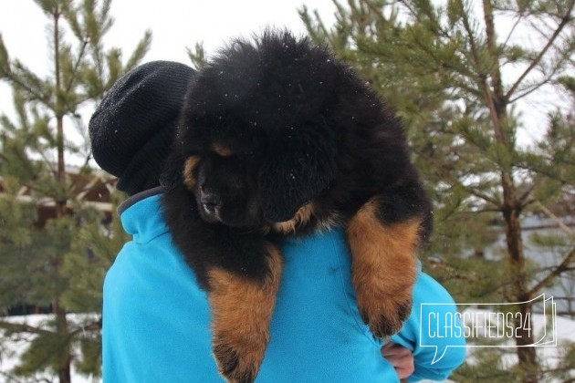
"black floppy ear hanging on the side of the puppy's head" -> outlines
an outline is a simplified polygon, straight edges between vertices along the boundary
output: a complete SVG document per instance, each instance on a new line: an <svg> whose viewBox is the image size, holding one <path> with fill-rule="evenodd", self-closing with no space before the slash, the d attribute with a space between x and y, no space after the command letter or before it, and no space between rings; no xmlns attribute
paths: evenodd
<svg viewBox="0 0 575 383"><path fill-rule="evenodd" d="M259 195L267 222L290 220L335 177L336 146L321 134L293 134L269 148L260 167Z"/></svg>

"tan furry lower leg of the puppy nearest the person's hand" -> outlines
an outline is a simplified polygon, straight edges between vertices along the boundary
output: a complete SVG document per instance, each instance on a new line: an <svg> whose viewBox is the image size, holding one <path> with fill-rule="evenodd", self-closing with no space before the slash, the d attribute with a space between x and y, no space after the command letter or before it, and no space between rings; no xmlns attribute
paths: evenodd
<svg viewBox="0 0 575 383"><path fill-rule="evenodd" d="M358 306L374 336L400 330L412 307L421 219L383 223L376 199L365 203L347 227L352 281Z"/></svg>

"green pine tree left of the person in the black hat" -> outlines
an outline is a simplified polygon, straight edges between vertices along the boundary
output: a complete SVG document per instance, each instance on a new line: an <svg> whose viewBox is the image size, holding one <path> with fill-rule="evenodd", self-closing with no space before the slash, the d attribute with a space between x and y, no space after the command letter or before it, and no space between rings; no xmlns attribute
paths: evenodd
<svg viewBox="0 0 575 383"><path fill-rule="evenodd" d="M0 79L16 110L0 116L0 310L26 304L52 315L37 326L0 318L0 335L31 335L16 374L47 371L68 383L72 363L99 371L101 282L124 240L119 223L83 198L110 177L90 168L81 116L141 61L152 35L122 62L120 49L102 42L113 24L110 0L35 2L50 31L49 75L10 57L0 36ZM74 129L80 138L71 140ZM71 319L73 312L89 314Z"/></svg>

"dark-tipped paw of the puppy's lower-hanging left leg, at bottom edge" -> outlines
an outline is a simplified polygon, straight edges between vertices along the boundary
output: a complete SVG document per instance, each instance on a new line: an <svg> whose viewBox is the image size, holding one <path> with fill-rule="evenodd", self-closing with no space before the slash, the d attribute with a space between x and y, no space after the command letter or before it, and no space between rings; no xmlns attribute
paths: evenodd
<svg viewBox="0 0 575 383"><path fill-rule="evenodd" d="M259 365L264 356L266 342L261 347L230 345L225 342L214 344L214 357L220 374L230 383L251 383L256 379Z"/></svg>

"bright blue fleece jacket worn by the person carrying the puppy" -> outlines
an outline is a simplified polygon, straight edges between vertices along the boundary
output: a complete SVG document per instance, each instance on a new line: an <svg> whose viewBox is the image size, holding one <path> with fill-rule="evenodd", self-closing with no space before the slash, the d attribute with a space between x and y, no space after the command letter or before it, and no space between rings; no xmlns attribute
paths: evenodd
<svg viewBox="0 0 575 383"><path fill-rule="evenodd" d="M159 197L136 202L120 215L132 240L104 284L104 383L222 382L211 354L206 293L173 245ZM361 321L342 231L288 238L282 251L285 265L271 339L256 382L398 381L381 355L382 342ZM410 380L444 379L462 363L465 348L448 348L432 365L434 347L420 345L463 346L465 340L420 333L420 306L453 300L423 273L413 295L412 315L392 342L413 350ZM455 313L455 305L437 310Z"/></svg>

